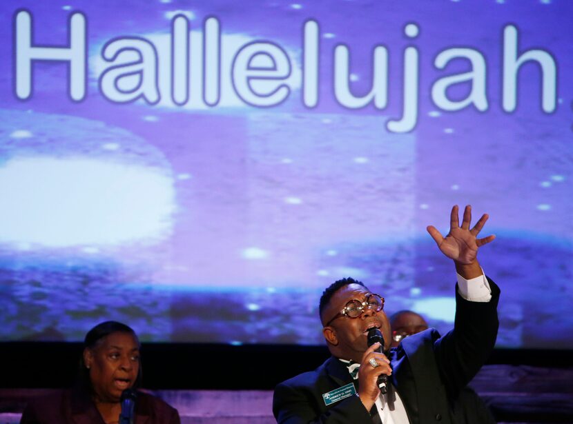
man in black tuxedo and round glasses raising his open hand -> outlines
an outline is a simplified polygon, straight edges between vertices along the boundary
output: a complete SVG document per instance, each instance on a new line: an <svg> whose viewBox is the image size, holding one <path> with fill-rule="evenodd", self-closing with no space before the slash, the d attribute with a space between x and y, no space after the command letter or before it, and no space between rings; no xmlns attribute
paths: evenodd
<svg viewBox="0 0 573 424"><path fill-rule="evenodd" d="M384 299L353 279L324 290L320 319L332 356L275 388L278 423L457 423L452 405L489 356L498 330L499 289L477 260L478 248L494 239L477 238L487 218L484 214L470 229L471 208L466 206L460 225L454 206L447 236L427 228L458 273L454 330L443 337L430 329L389 350ZM380 343L367 346L372 327L382 332L385 353L377 352ZM387 376L386 394L379 388L382 374Z"/></svg>

